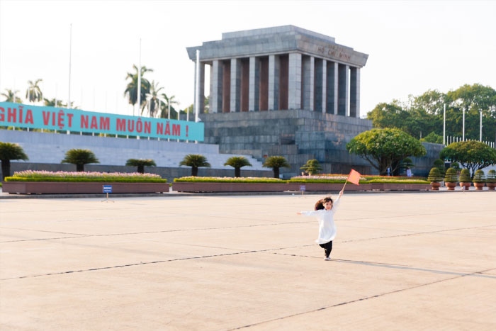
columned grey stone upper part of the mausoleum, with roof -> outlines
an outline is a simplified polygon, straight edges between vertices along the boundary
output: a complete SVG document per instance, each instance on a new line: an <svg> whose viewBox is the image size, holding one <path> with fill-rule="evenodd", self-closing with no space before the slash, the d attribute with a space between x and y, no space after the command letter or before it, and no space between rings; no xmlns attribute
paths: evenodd
<svg viewBox="0 0 496 331"><path fill-rule="evenodd" d="M210 66L209 113L305 109L358 118L368 55L296 26L222 33L200 50L200 95ZM200 98L200 113L204 111Z"/></svg>

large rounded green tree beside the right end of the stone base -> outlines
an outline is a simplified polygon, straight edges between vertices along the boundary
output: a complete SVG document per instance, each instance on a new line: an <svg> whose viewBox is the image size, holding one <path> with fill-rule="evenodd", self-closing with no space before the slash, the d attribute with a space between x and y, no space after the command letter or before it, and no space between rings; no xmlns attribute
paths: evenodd
<svg viewBox="0 0 496 331"><path fill-rule="evenodd" d="M346 150L366 159L381 175L395 172L405 157L427 153L419 140L398 129L372 129L360 133L346 144Z"/></svg>

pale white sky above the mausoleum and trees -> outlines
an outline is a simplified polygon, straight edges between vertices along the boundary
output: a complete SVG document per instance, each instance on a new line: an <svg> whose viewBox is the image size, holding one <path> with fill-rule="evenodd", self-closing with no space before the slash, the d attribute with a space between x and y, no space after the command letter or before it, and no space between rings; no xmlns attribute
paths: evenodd
<svg viewBox="0 0 496 331"><path fill-rule="evenodd" d="M363 117L377 103L429 89L496 89L495 17L496 1L0 0L0 91L16 89L24 99L28 80L43 79L47 99L67 102L70 49L71 101L85 111L132 115L125 77L139 62L141 39L141 64L154 70L145 77L186 108L194 94L186 47L291 24L369 55L361 69Z"/></svg>

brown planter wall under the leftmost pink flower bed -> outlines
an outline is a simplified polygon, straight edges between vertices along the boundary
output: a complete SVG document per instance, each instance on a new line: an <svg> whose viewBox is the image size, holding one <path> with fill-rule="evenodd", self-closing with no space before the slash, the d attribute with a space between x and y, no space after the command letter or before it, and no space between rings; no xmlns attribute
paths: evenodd
<svg viewBox="0 0 496 331"><path fill-rule="evenodd" d="M107 183L67 181L4 181L2 191L6 193L103 193L103 185L112 185L112 193L157 193L169 192L168 183Z"/></svg>

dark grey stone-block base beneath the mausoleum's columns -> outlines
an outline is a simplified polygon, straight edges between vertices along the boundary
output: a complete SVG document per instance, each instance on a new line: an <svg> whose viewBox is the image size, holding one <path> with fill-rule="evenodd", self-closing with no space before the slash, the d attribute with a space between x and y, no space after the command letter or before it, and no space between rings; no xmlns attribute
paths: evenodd
<svg viewBox="0 0 496 331"><path fill-rule="evenodd" d="M219 152L265 157L282 155L291 169L285 177L300 174L308 159L317 159L325 173L346 173L351 167L373 173L370 164L346 151L359 133L370 130L370 120L316 111L205 113L205 142L219 145Z"/></svg>

